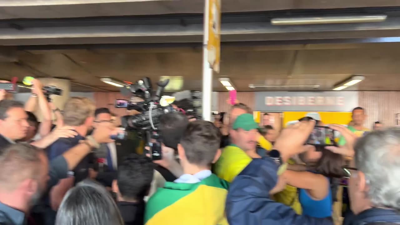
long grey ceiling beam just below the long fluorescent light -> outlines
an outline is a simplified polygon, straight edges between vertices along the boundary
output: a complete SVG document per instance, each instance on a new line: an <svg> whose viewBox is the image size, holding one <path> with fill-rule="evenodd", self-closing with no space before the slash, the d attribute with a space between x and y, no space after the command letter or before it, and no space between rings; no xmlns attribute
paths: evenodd
<svg viewBox="0 0 400 225"><path fill-rule="evenodd" d="M0 45L201 42L202 34L202 24L3 28L0 29ZM221 34L222 42L399 37L400 17L364 24L273 26L267 22L229 23L222 24ZM381 40L386 41L392 40Z"/></svg>

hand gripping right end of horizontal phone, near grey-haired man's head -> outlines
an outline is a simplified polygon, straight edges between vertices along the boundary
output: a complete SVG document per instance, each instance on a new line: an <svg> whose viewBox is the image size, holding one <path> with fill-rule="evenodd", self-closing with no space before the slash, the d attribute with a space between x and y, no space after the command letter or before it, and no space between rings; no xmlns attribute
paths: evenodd
<svg viewBox="0 0 400 225"><path fill-rule="evenodd" d="M325 147L325 149L328 149L333 153L338 153L345 157L354 157L354 143L356 143L358 137L349 129L347 129L347 127L344 127L342 125L330 125L329 127L335 131L339 131L346 140L346 144L340 147L327 146Z"/></svg>

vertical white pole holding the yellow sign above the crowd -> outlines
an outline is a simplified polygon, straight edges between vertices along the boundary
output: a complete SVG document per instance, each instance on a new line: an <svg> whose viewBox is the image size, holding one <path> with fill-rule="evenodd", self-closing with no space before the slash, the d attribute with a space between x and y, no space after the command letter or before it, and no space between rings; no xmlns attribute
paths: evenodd
<svg viewBox="0 0 400 225"><path fill-rule="evenodd" d="M208 63L208 7L209 0L204 0L204 36L203 36L203 104L202 112L205 121L211 121L211 92L212 92L212 69Z"/></svg>

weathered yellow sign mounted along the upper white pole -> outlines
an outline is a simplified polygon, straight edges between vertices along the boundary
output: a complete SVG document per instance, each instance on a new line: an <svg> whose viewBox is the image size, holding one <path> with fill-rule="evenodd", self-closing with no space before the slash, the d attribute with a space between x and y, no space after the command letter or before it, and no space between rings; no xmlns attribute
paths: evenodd
<svg viewBox="0 0 400 225"><path fill-rule="evenodd" d="M221 0L208 0L208 63L220 72L221 57Z"/></svg>

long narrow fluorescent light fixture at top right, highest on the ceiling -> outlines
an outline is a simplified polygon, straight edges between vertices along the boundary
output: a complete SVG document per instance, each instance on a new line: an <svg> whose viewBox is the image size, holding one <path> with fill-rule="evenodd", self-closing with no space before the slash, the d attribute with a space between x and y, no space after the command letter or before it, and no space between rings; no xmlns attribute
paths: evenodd
<svg viewBox="0 0 400 225"><path fill-rule="evenodd" d="M273 18L272 25L305 25L305 24L343 24L343 23L367 23L383 22L386 15L368 16L315 16L298 18Z"/></svg>

